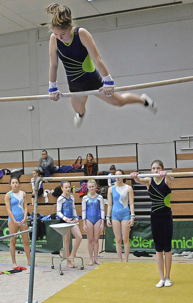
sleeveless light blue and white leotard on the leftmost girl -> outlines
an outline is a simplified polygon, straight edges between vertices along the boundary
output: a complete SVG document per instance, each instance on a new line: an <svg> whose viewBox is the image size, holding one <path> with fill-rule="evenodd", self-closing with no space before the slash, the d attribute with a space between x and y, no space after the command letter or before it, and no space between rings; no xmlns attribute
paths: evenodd
<svg viewBox="0 0 193 303"><path fill-rule="evenodd" d="M10 195L10 205L11 212L14 215L14 218L17 222L21 222L24 219L24 194L23 191L17 193L9 191ZM8 221L12 221L11 218L8 218Z"/></svg>

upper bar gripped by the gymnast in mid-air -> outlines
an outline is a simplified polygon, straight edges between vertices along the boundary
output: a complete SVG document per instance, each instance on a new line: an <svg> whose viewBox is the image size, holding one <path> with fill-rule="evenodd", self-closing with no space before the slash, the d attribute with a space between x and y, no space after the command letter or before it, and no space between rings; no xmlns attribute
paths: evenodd
<svg viewBox="0 0 193 303"><path fill-rule="evenodd" d="M157 82L150 82L150 83L143 83L143 84L135 84L135 85L115 87L114 92L132 91L132 90L135 90L135 89L178 84L178 83L190 82L190 81L193 81L193 76L184 77L184 78L170 79L170 80L163 80L163 81L157 81ZM102 95L102 94L103 94L102 91L99 92L98 90L92 90L92 91L85 91L85 92L63 93L63 98L81 97L81 96L90 96L90 95ZM44 100L44 99L49 99L49 98L50 98L49 95L2 97L2 98L0 98L0 102Z"/></svg>

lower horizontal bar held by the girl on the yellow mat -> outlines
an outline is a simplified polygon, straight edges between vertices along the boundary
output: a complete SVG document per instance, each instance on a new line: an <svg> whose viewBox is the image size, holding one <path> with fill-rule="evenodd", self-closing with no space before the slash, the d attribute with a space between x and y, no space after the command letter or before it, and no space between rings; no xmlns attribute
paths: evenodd
<svg viewBox="0 0 193 303"><path fill-rule="evenodd" d="M171 172L167 173L167 176L170 177L193 177L193 171L186 171L186 172ZM63 181L63 180L70 180L70 181L79 181L85 179L85 180L90 180L90 179L110 179L109 175L100 175L100 176L73 176L73 177L40 177L37 178L41 181ZM160 177L159 174L139 174L137 175L138 178L152 178L152 177ZM120 179L132 179L131 175L116 175L116 178Z"/></svg>

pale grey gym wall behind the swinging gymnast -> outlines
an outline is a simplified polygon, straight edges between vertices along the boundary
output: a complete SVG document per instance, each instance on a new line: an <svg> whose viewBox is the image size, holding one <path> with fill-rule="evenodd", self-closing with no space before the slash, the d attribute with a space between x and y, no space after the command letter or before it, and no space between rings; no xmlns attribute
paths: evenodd
<svg viewBox="0 0 193 303"><path fill-rule="evenodd" d="M192 4L179 5L76 25L92 33L116 86L154 82L192 75L192 9ZM0 35L1 97L47 94L49 35L45 28ZM57 80L59 89L68 92L62 64ZM157 115L140 105L117 108L90 96L84 123L76 129L69 99L2 102L0 150L138 142L140 168L149 168L155 158L174 167L173 140L193 135L192 82L133 92L149 94L158 105Z"/></svg>

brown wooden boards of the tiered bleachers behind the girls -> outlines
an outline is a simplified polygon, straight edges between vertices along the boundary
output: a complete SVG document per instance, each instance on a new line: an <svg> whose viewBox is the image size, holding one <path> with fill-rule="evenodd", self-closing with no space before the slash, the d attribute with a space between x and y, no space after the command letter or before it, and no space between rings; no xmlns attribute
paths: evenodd
<svg viewBox="0 0 193 303"><path fill-rule="evenodd" d="M179 154L177 155L177 160L190 160L193 159L192 154ZM60 166L62 165L72 165L76 159L68 159L68 160L61 160ZM55 164L58 165L58 161L55 161ZM82 160L82 163L85 162L85 159ZM133 163L137 162L136 156L130 157L109 157L109 158L98 158L99 164L118 164L118 163ZM38 161L28 161L24 162L25 167L37 167ZM9 163L0 163L0 167L13 167L13 168L22 168L21 162L9 162ZM136 170L125 170L125 174L130 174L130 172ZM193 171L193 168L173 168L173 172L181 172L181 171ZM102 171L98 171L98 173L102 173ZM53 174L52 177L69 177L69 182L71 183L71 187L80 187L79 181L72 181L70 177L72 176L82 176L84 179L84 173L63 173L63 174ZM25 192L27 192L27 203L28 203L28 211L33 212L33 207L29 206L31 203L31 182L32 175L21 175L20 182L21 187L26 185L22 188ZM0 178L0 217L6 216L6 208L4 198L2 196L10 190L10 186L8 184L10 180L10 176L6 175ZM131 180L127 180L127 184L131 185ZM43 189L55 189L56 186L60 186L60 181L50 181L49 183L43 183ZM79 208L81 208L82 197L79 197L78 193L73 194L75 196L75 204ZM42 213L43 215L50 215L56 212L56 201L57 198L53 197L51 194L48 194L49 203L45 203L43 195L38 198L38 212ZM174 217L181 217L183 219L188 219L188 216L193 217L193 213L191 211L193 203L193 178L192 177L181 177L181 178L174 178L172 182L172 197L171 197L171 204L172 204L172 211ZM106 206L105 206L106 209ZM78 213L77 211L77 213ZM79 212L81 215L81 211ZM177 218L175 218L177 219Z"/></svg>

